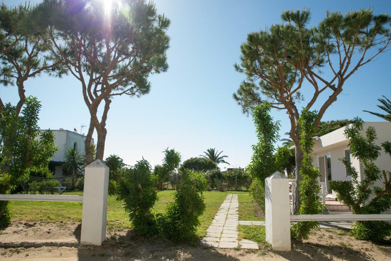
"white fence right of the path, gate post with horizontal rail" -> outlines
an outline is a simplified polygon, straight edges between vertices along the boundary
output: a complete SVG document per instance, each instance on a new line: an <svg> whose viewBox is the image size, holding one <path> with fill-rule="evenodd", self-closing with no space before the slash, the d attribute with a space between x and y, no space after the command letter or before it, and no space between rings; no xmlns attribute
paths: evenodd
<svg viewBox="0 0 391 261"><path fill-rule="evenodd" d="M323 183L323 184L322 184ZM318 196L325 197L327 191L324 182ZM287 190L291 185L292 192ZM291 222L292 221L378 221L391 220L391 214L317 214L317 215L291 215L289 196L294 199L294 182L290 182L279 172L273 173L265 179L265 230L266 241L275 250L291 250Z"/></svg>

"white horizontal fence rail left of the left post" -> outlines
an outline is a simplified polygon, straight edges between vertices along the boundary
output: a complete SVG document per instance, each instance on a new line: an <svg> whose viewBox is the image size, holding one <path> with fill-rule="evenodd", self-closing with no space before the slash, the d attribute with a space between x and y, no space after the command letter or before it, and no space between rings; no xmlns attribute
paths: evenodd
<svg viewBox="0 0 391 261"><path fill-rule="evenodd" d="M51 194L0 194L0 200L83 202L83 196Z"/></svg>

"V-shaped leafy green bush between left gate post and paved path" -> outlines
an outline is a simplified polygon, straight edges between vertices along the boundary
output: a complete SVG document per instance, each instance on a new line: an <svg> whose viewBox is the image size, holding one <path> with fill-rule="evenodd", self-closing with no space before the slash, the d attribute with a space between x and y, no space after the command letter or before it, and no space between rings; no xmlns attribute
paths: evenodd
<svg viewBox="0 0 391 261"><path fill-rule="evenodd" d="M178 156L179 153L174 153L173 150L165 153L164 173L169 173L178 166ZM168 204L163 214L156 214L153 207L158 200L156 184L160 182L161 174L154 173L149 162L142 159L135 166L123 168L118 173L120 182L113 184L113 193L117 200L124 202L125 211L138 234L193 243L199 216L205 210L202 195L208 185L205 175L190 170L182 173L183 181L174 194L174 201Z"/></svg>

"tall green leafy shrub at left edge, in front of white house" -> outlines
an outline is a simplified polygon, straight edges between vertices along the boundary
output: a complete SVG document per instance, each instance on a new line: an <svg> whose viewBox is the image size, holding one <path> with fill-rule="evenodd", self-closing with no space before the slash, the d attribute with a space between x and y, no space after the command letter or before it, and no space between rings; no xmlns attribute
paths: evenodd
<svg viewBox="0 0 391 261"><path fill-rule="evenodd" d="M16 106L5 104L0 110L0 194L9 193L28 180L30 167L47 166L57 151L52 131L39 132L39 101L25 98L20 114ZM9 224L8 202L0 204L0 225Z"/></svg>

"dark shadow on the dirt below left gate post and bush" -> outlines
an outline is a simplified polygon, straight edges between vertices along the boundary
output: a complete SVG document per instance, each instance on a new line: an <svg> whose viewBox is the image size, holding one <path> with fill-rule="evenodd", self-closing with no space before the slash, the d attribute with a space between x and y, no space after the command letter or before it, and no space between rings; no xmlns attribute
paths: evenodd
<svg viewBox="0 0 391 261"><path fill-rule="evenodd" d="M80 241L79 226L74 235ZM79 261L90 260L172 260L172 259L202 259L202 260L239 260L230 254L224 254L215 248L201 245L178 245L170 240L159 238L144 238L132 230L125 235L112 234L106 236L101 246L81 246L78 250Z"/></svg>

